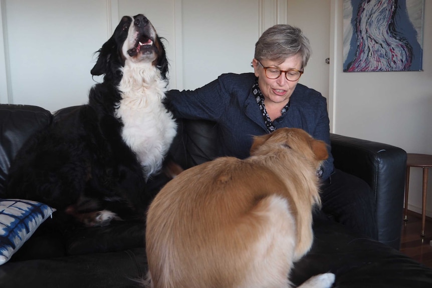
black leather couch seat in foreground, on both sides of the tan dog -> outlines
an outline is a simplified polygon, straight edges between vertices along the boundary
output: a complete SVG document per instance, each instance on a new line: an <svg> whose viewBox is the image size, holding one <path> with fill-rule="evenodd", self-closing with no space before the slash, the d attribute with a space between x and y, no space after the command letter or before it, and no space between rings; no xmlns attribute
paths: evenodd
<svg viewBox="0 0 432 288"><path fill-rule="evenodd" d="M0 266L0 287L142 287L134 279L146 269L143 247L8 262ZM312 249L294 264L291 279L298 285L329 271L336 274L334 287L432 287L432 269L338 223L315 219Z"/></svg>

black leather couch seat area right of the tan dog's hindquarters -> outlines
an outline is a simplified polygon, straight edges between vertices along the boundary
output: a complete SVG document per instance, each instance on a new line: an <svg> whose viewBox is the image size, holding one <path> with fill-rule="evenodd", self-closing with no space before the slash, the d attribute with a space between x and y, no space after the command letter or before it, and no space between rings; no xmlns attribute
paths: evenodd
<svg viewBox="0 0 432 288"><path fill-rule="evenodd" d="M325 272L336 274L333 287L432 287L432 269L381 242L358 237L331 220L314 219L311 250L294 264L300 284Z"/></svg>

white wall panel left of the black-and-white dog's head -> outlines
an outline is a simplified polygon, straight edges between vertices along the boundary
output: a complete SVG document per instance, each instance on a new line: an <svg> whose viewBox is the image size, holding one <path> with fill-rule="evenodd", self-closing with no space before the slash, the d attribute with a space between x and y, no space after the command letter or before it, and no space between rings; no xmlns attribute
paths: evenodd
<svg viewBox="0 0 432 288"><path fill-rule="evenodd" d="M2 1L9 63L1 102L49 110L87 101L93 53L108 39L106 1ZM93 13L98 11L99 13ZM4 65L0 65L0 68ZM7 86L6 86L7 85Z"/></svg>

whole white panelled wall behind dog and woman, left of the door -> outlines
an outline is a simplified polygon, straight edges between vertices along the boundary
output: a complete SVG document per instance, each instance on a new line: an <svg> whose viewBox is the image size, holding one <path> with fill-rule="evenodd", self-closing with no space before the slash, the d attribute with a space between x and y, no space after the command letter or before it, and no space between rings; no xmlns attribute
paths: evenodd
<svg viewBox="0 0 432 288"><path fill-rule="evenodd" d="M286 22L287 0L0 0L0 103L50 111L87 102L96 52L124 15L148 16L166 39L170 88L195 89L252 72L264 29Z"/></svg>

